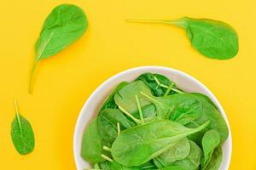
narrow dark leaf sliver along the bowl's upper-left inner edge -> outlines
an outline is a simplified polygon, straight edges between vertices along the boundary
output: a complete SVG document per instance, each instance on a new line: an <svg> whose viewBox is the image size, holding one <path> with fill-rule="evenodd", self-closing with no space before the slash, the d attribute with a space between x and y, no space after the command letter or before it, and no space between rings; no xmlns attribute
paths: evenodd
<svg viewBox="0 0 256 170"><path fill-rule="evenodd" d="M100 111L104 110L104 109L117 109L118 106L115 104L114 102L114 95L122 88L124 88L129 82L120 82L119 85L117 85L116 88L113 89L113 91L111 92L111 94L108 95L108 98L105 99L105 101L103 102Z"/></svg>

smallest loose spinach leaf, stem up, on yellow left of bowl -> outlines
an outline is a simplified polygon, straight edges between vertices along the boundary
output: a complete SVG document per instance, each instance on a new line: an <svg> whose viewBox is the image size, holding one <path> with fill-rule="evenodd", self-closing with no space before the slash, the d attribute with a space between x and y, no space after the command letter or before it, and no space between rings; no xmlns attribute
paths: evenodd
<svg viewBox="0 0 256 170"><path fill-rule="evenodd" d="M34 133L30 122L20 115L18 104L15 99L15 120L12 122L11 136L15 149L20 155L26 155L32 152L35 147Z"/></svg>

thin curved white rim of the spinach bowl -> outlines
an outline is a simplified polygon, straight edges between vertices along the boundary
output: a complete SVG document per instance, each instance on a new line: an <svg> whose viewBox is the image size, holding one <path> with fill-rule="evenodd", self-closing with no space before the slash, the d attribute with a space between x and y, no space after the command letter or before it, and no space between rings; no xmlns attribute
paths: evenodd
<svg viewBox="0 0 256 170"><path fill-rule="evenodd" d="M195 77L190 76L188 73L183 72L183 71L179 71L177 69L174 68L170 68L170 67L166 67L166 66L159 66L159 65L147 65L147 66L138 66L138 67L133 67L130 69L126 69L125 71L120 71L119 73L113 75L112 77L109 77L107 80L105 80L104 82L102 82L101 85L99 85L88 97L88 99L85 100L84 105L81 109L81 111L79 112L79 117L77 119L76 125L75 125L75 129L74 129L74 135L73 135L73 156L74 156L74 161L75 161L75 165L78 169L79 167L79 154L77 154L77 152L80 150L78 149L78 143L80 141L78 140L79 137L79 127L82 126L80 125L80 123L82 122L82 116L84 111L86 110L86 108L88 107L88 104L91 102L92 99L95 98L96 94L98 94L99 91L102 90L103 87L105 87L106 85L108 85L108 83L113 82L116 79L119 79L119 77L123 77L125 74L129 74L133 71L140 71L140 70L162 70L162 71L170 71L170 72L176 72L179 75L183 75L184 77L190 79L191 81L197 83L201 88L203 88L206 92L207 92L207 96L212 99L212 102L218 106L218 109L221 113L221 115L224 118L224 121L227 124L227 127L229 129L229 136L228 139L226 139L225 142L227 142L228 148L229 150L227 151L227 160L226 160L226 164L224 165L224 170L228 170L230 167L230 161L231 161L231 155L232 155L232 135L231 135L231 130L230 130L230 122L228 120L228 117L226 116L226 113L224 111L224 108L222 107L222 105L220 104L220 102L218 101L218 99L216 98L216 96L214 94L212 94L212 91L207 88L206 85L204 85L202 82L200 82L199 80L197 80ZM149 72L149 71L148 71ZM152 71L154 72L154 71Z"/></svg>

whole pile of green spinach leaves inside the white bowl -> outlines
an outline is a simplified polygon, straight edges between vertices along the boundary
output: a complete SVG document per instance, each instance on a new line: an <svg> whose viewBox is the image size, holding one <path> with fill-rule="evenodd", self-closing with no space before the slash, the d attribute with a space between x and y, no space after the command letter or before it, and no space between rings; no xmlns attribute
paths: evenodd
<svg viewBox="0 0 256 170"><path fill-rule="evenodd" d="M217 170L228 135L207 96L144 73L109 94L84 130L81 156L103 170Z"/></svg>

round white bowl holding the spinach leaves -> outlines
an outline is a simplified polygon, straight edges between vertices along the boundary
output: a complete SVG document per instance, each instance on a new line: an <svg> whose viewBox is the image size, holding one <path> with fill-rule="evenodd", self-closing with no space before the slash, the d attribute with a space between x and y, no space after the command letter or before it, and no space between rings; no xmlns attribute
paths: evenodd
<svg viewBox="0 0 256 170"><path fill-rule="evenodd" d="M218 102L218 99L205 85L196 80L194 77L189 76L183 71L177 71L175 69L162 66L142 66L122 71L119 74L109 78L106 82L103 82L102 85L96 88L96 90L90 95L89 99L87 99L86 103L84 104L82 111L80 111L73 137L73 153L77 169L82 170L90 167L90 164L84 161L80 156L82 136L84 133L84 128L90 122L90 120L96 116L99 106L102 104L103 100L119 82L130 82L144 72L160 73L176 82L178 88L181 88L186 92L206 94L210 99L212 99L213 103L218 106L221 115L224 117L224 120L229 127L229 137L223 144L223 161L220 167L221 170L228 170L232 151L230 124L227 116L225 115L223 107Z"/></svg>

